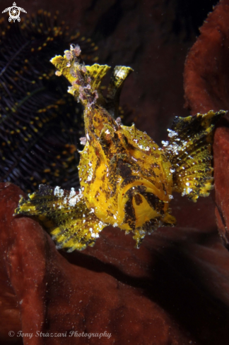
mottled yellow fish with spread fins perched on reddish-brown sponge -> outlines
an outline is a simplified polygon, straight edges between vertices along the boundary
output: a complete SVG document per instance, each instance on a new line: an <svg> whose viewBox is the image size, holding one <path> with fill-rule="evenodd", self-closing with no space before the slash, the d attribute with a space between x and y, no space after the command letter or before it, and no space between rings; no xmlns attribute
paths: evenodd
<svg viewBox="0 0 229 345"><path fill-rule="evenodd" d="M172 192L196 201L213 188L211 143L213 128L225 111L176 117L168 141L158 145L134 124L116 119L119 95L132 69L116 66L107 96L100 84L110 67L85 66L81 49L71 44L64 56L51 62L57 75L69 80L71 95L84 106L86 137L78 166L81 189L62 190L41 185L21 199L16 214L36 215L49 230L57 248L82 250L93 246L107 226L134 233L139 248L158 226L173 226Z"/></svg>

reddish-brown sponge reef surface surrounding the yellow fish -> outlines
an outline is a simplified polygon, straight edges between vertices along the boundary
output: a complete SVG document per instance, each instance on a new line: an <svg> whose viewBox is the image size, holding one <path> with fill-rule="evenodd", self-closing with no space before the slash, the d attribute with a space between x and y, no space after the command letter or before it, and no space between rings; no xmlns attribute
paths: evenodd
<svg viewBox="0 0 229 345"><path fill-rule="evenodd" d="M173 11L178 3L114 1L109 6L107 1L85 1L83 8L76 4L71 17L67 12L70 5L65 14L71 25L85 16L84 25L89 22L98 46L104 46L100 62L113 60L114 64L125 63L137 70L133 73L136 77L127 80L122 97L134 107L139 104L142 116L136 126L155 141L165 138L175 115L189 114L182 109L183 69L186 104L192 114L228 109L229 1L221 1L206 19L185 66L187 48L192 46L195 34L184 28L179 31L176 26L175 34L168 35L180 18ZM20 6L30 11L26 4L22 1ZM48 6L52 5L50 1ZM100 18L98 6L102 8ZM111 21L109 35L105 36L100 20L107 18L110 8L111 13L118 13L114 18L120 19ZM78 17L77 11L81 13ZM93 21L93 16L98 20ZM133 37L133 32L139 35ZM131 47L136 48L133 55ZM150 66L152 71L147 74ZM218 236L213 195L200 198L196 204L175 195L172 210L177 226L146 236L139 249L134 248L131 236L107 227L93 248L58 252L35 219L13 217L25 193L18 186L1 183L1 344L228 344L229 253L223 246L228 238L227 126L226 119L219 123L214 144L216 214L224 243ZM11 330L15 334L107 331L112 336L22 339L9 337Z"/></svg>

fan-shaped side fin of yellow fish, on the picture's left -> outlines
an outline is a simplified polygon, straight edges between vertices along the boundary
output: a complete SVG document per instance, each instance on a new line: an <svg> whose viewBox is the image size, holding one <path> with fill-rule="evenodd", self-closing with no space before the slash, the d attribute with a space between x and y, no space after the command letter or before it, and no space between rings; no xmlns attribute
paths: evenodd
<svg viewBox="0 0 229 345"><path fill-rule="evenodd" d="M93 246L107 225L88 209L82 194L74 188L62 190L40 185L39 191L20 199L16 214L36 216L57 243L57 249L83 250Z"/></svg>

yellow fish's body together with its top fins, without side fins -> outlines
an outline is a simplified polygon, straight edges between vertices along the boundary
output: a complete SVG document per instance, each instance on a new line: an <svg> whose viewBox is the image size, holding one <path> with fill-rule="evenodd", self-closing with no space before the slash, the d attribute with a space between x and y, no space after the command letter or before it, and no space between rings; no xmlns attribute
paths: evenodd
<svg viewBox="0 0 229 345"><path fill-rule="evenodd" d="M69 92L85 107L87 141L81 151L78 175L86 206L103 223L134 231L139 246L146 232L175 223L168 212L171 164L146 133L134 125L121 126L105 109L108 102L102 97L100 83L108 66L85 66L87 73L82 73L81 65L73 60L69 66L66 56L56 56L52 63L71 82ZM108 87L108 100L115 99L130 70L117 68ZM80 83L74 83L73 74Z"/></svg>

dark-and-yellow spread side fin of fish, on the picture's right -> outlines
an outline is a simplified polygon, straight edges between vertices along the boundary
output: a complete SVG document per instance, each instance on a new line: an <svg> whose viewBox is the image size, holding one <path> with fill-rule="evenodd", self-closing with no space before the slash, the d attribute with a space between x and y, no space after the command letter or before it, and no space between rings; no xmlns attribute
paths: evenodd
<svg viewBox="0 0 229 345"><path fill-rule="evenodd" d="M172 169L173 191L188 195L196 202L208 196L213 188L211 145L213 129L225 111L175 117L168 130L169 140L163 142Z"/></svg>

